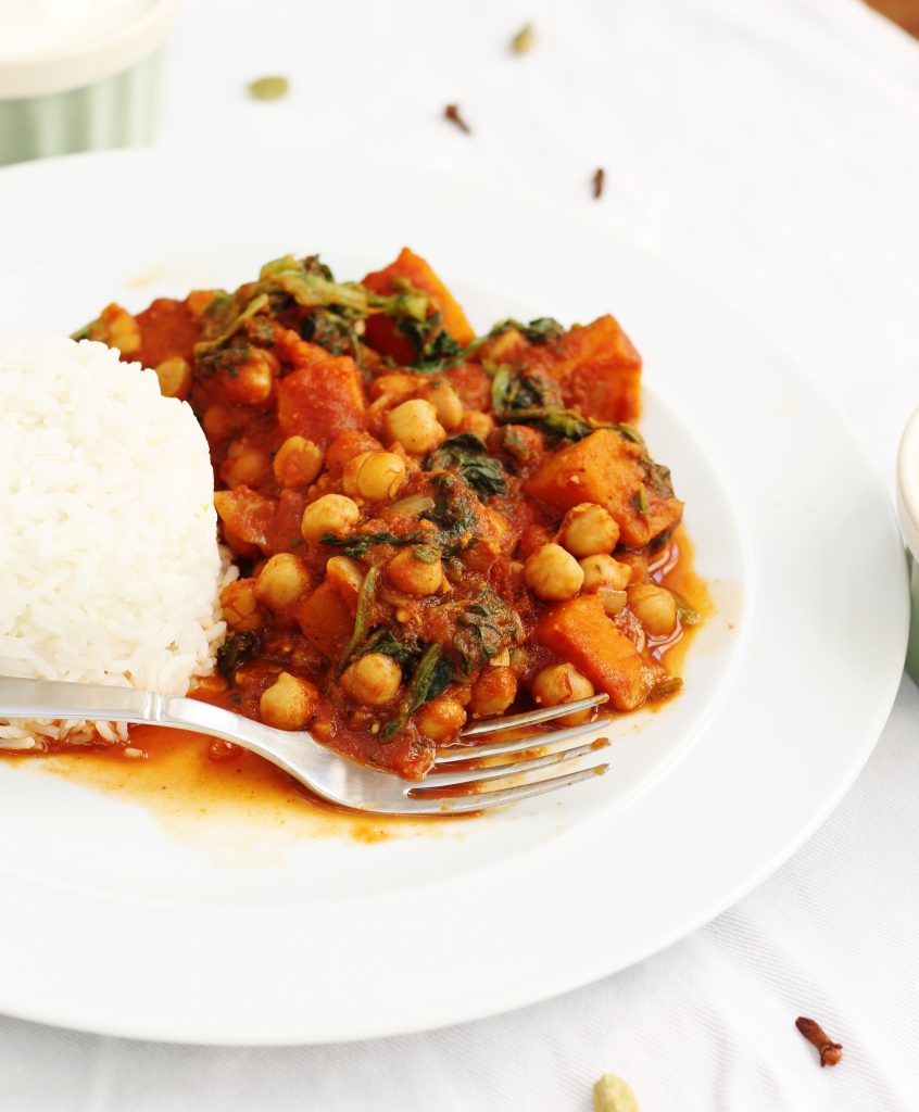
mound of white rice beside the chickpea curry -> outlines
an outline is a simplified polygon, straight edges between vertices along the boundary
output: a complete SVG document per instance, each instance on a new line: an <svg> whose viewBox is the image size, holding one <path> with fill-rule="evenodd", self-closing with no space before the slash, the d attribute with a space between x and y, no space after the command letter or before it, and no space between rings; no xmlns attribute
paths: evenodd
<svg viewBox="0 0 919 1112"><path fill-rule="evenodd" d="M88 340L0 338L0 674L178 695L208 674L213 484L191 409L152 370ZM49 737L86 742L92 724L0 717L0 747Z"/></svg>

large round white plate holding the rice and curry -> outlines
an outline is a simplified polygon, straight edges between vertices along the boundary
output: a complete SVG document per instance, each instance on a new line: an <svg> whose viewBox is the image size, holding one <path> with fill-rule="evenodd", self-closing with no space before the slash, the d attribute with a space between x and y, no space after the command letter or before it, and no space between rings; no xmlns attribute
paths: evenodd
<svg viewBox="0 0 919 1112"><path fill-rule="evenodd" d="M843 418L759 331L634 246L521 199L369 168L145 153L0 173L0 330L69 331L288 251L359 277L409 244L483 327L614 312L645 359L717 615L612 773L359 844L220 828L0 763L0 1009L191 1042L323 1042L484 1016L620 970L729 906L826 818L892 703L907 584ZM189 823L194 824L194 816Z"/></svg>

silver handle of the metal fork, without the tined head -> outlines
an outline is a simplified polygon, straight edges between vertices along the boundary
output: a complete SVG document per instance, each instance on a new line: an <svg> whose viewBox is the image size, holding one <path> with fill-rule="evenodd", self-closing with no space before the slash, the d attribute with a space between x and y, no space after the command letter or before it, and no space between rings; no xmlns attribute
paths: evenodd
<svg viewBox="0 0 919 1112"><path fill-rule="evenodd" d="M101 684L0 676L0 717L141 722L190 729L235 742L295 774L302 774L310 747L318 748L306 732L273 729L210 703Z"/></svg>

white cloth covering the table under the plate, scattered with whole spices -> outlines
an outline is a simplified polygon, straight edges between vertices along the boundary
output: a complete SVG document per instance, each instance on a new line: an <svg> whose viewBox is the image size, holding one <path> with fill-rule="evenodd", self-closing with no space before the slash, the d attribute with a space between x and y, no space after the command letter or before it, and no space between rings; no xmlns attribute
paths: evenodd
<svg viewBox="0 0 919 1112"><path fill-rule="evenodd" d="M512 57L527 20L537 46ZM264 73L290 76L291 95L249 100ZM168 79L160 142L177 173L201 146L231 172L249 138L277 152L268 186L306 151L324 173L359 152L369 182L377 159L423 159L652 245L824 380L892 489L919 405L919 46L858 0L189 0ZM442 120L447 101L472 136ZM905 681L810 843L632 970L345 1046L155 1045L0 1019L0 1109L561 1112L589 1109L612 1071L644 1112L915 1112L918 996L919 693ZM818 1068L802 1012L846 1044L838 1069Z"/></svg>

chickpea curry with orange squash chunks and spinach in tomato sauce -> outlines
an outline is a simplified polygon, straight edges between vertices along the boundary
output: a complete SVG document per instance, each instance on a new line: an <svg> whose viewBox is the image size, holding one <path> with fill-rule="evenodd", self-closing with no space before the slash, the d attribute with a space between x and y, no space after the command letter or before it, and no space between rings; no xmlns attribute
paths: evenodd
<svg viewBox="0 0 919 1112"><path fill-rule="evenodd" d="M156 368L207 437L239 577L201 697L421 778L472 718L679 689L683 507L613 317L476 336L405 249L360 282L286 257L79 335Z"/></svg>

